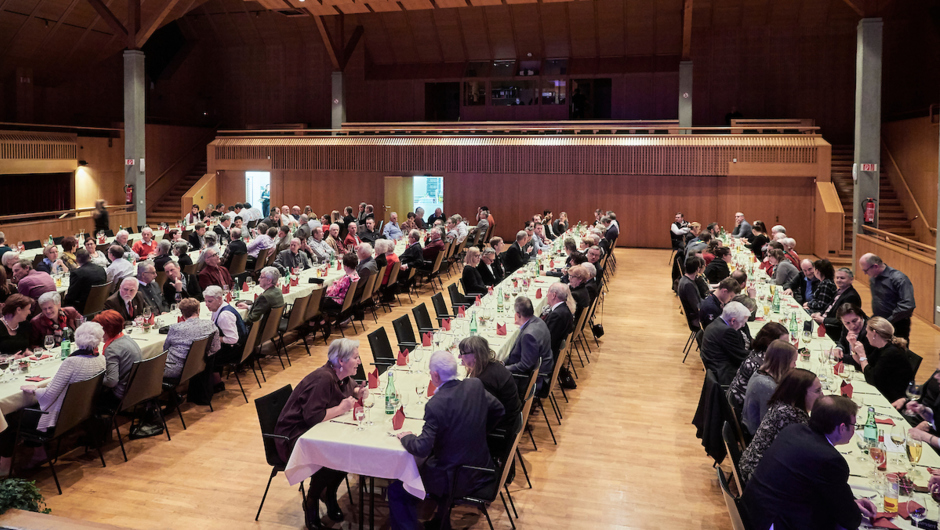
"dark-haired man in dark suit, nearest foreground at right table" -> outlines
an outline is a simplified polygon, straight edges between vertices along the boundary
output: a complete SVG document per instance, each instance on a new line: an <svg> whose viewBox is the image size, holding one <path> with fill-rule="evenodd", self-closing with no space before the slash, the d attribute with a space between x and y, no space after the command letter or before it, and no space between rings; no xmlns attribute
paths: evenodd
<svg viewBox="0 0 940 530"><path fill-rule="evenodd" d="M823 396L809 425L780 431L741 498L753 528L858 528L863 515L875 515L874 503L852 493L849 465L836 448L852 440L857 411L851 399Z"/></svg>

